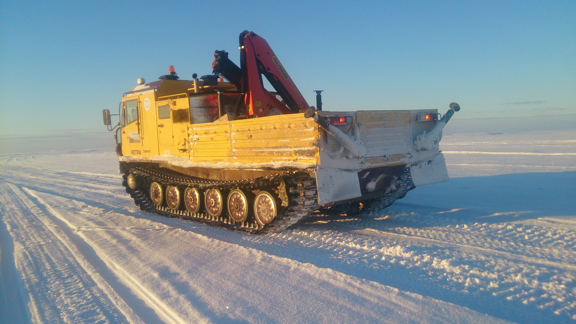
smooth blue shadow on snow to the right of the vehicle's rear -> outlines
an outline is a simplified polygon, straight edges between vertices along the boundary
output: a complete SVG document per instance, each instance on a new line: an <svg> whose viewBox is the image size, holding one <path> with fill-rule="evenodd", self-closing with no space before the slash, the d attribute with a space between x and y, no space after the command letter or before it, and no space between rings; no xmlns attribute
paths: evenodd
<svg viewBox="0 0 576 324"><path fill-rule="evenodd" d="M488 224L576 217L576 171L453 178L416 187L393 206Z"/></svg>

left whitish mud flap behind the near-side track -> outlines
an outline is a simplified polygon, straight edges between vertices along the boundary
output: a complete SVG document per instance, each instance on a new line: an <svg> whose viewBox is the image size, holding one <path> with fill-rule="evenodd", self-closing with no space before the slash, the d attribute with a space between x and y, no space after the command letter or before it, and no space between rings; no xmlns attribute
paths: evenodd
<svg viewBox="0 0 576 324"><path fill-rule="evenodd" d="M320 205L360 197L360 182L356 172L319 169L316 171Z"/></svg>

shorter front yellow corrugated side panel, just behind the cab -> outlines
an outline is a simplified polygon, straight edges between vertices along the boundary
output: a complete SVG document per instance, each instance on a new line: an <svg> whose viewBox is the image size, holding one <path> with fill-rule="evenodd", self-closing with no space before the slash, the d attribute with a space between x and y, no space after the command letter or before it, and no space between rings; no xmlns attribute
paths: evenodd
<svg viewBox="0 0 576 324"><path fill-rule="evenodd" d="M198 138L192 145L194 161L232 160L229 122L193 124L190 133L191 137Z"/></svg>

